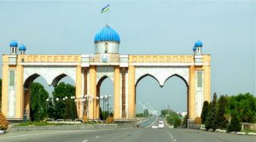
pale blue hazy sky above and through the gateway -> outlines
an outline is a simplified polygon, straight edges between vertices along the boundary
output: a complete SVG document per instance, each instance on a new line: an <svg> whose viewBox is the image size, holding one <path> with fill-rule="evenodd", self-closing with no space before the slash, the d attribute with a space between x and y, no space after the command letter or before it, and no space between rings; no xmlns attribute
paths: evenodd
<svg viewBox="0 0 256 142"><path fill-rule="evenodd" d="M121 40L119 54L193 54L194 43L201 40L202 53L211 54L211 94L256 94L253 0L0 0L0 53L9 54L15 39L26 45L26 54L94 54L96 32L107 22L107 14L100 12L108 3L108 25ZM102 82L101 90L113 94L113 82ZM157 110L186 111L186 92L178 77L163 88L145 77L137 85L137 110L142 111L138 102L149 102Z"/></svg>

